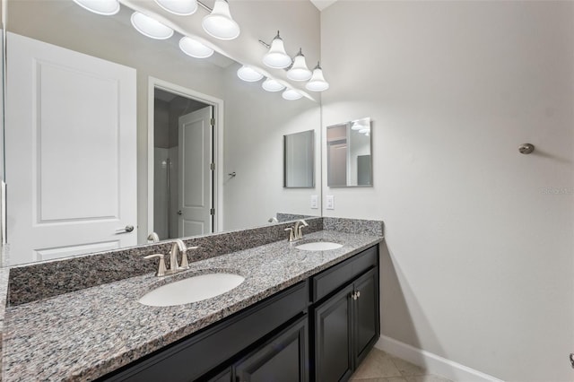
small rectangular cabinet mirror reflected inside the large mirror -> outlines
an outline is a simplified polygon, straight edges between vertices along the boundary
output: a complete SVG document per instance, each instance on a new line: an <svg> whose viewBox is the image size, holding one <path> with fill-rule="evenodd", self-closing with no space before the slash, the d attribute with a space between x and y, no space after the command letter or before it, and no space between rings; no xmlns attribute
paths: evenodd
<svg viewBox="0 0 574 382"><path fill-rule="evenodd" d="M315 187L315 131L283 135L286 188Z"/></svg>

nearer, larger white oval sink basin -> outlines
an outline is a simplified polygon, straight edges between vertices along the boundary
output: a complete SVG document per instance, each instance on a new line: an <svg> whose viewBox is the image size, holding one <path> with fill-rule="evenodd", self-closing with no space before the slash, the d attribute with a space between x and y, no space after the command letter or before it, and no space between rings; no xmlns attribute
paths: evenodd
<svg viewBox="0 0 574 382"><path fill-rule="evenodd" d="M237 287L245 278L231 273L207 273L162 285L138 300L152 307L171 307L211 299Z"/></svg>

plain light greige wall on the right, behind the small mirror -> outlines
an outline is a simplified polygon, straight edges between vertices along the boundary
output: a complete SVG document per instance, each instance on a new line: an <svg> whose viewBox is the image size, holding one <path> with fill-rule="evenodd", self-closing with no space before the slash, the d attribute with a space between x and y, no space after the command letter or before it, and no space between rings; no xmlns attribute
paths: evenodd
<svg viewBox="0 0 574 382"><path fill-rule="evenodd" d="M323 125L372 118L375 185L324 179L324 213L386 223L384 335L505 380L574 378L573 25L571 2L321 14Z"/></svg>

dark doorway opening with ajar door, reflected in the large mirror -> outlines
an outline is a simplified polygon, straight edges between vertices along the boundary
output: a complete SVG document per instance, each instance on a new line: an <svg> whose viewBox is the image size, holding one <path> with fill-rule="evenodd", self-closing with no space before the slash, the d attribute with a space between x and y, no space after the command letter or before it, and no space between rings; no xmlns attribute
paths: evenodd
<svg viewBox="0 0 574 382"><path fill-rule="evenodd" d="M213 232L213 106L155 88L153 155L159 238Z"/></svg>

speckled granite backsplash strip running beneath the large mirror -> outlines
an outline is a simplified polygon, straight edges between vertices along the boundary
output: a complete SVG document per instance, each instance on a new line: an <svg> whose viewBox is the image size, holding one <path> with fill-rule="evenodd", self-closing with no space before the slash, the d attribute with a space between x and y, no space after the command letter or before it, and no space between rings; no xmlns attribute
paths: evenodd
<svg viewBox="0 0 574 382"><path fill-rule="evenodd" d="M322 218L308 219L306 233L323 230ZM223 233L184 239L189 250L190 262L204 260L258 247L287 237L285 228L292 222L273 224L249 230L236 230ZM166 266L170 267L172 241L164 241L139 247L130 247L87 256L74 256L66 259L14 266L10 270L8 304L19 305L27 302L48 299L71 291L116 282L129 277L155 272L157 260L143 260L142 257L155 253L166 255Z"/></svg>

